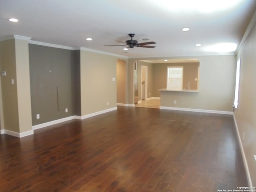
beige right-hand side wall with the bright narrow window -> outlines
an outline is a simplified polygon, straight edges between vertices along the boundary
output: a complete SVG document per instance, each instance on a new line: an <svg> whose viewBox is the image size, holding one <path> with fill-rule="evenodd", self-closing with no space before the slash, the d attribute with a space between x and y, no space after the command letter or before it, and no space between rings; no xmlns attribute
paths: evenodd
<svg viewBox="0 0 256 192"><path fill-rule="evenodd" d="M252 186L256 186L256 24L240 48L241 58L238 108L234 111ZM244 133L244 139L243 139Z"/></svg>

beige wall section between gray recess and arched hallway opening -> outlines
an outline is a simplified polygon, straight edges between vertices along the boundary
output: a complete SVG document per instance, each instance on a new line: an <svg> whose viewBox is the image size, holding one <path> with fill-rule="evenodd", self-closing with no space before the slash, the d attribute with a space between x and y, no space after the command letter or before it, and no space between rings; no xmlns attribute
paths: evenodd
<svg viewBox="0 0 256 192"><path fill-rule="evenodd" d="M115 56L81 50L81 115L116 107ZM107 102L109 105L107 105Z"/></svg>

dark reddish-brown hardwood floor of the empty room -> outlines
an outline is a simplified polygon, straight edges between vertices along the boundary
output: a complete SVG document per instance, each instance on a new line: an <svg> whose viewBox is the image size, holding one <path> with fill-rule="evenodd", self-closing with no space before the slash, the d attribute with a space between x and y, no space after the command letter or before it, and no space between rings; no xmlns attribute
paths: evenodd
<svg viewBox="0 0 256 192"><path fill-rule="evenodd" d="M1 192L217 192L248 186L233 117L118 107L0 135Z"/></svg>

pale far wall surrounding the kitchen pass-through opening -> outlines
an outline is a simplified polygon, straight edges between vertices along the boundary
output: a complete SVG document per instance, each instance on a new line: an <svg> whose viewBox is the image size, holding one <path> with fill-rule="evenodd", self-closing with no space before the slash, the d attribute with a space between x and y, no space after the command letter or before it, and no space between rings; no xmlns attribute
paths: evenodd
<svg viewBox="0 0 256 192"><path fill-rule="evenodd" d="M180 58L190 59L190 57ZM232 111L236 56L193 56L193 58L200 62L199 92L165 92L161 96L161 106ZM135 60L141 60L141 58L129 59L128 65L132 65ZM129 73L131 72L129 70ZM128 86L130 87L130 84ZM132 90L129 90L128 96L128 101L131 103ZM177 100L177 104L174 104L174 100Z"/></svg>

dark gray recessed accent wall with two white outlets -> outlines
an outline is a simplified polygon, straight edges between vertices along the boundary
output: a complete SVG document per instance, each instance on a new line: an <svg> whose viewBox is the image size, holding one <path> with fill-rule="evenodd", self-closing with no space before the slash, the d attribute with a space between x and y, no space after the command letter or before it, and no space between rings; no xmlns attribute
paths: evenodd
<svg viewBox="0 0 256 192"><path fill-rule="evenodd" d="M29 44L29 63L32 125L73 116L74 51Z"/></svg>

